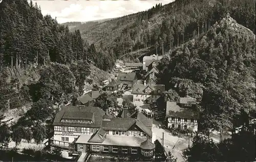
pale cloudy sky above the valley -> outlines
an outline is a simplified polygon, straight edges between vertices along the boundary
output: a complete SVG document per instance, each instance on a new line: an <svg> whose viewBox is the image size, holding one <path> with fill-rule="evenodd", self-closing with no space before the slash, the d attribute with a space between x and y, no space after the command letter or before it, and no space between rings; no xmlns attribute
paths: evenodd
<svg viewBox="0 0 256 162"><path fill-rule="evenodd" d="M59 23L71 21L92 21L106 18L121 17L139 11L145 11L156 4L162 5L173 2L172 0L159 1L32 1L41 7L42 15L50 14L57 18Z"/></svg>

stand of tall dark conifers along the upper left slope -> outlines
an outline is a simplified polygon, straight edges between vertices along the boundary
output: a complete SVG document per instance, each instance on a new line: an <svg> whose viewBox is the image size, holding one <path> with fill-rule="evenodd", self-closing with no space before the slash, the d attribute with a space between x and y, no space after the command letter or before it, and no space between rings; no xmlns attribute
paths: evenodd
<svg viewBox="0 0 256 162"><path fill-rule="evenodd" d="M28 1L3 1L1 3L1 65L27 68L32 64L47 62L70 64L97 55L88 51L89 44L82 40L80 31L69 32L68 26L60 25L50 15L42 16L40 7ZM104 53L106 54L106 53ZM107 55L108 58L109 55ZM100 53L96 66L105 66ZM112 59L114 60L114 58ZM111 64L112 65L112 64Z"/></svg>

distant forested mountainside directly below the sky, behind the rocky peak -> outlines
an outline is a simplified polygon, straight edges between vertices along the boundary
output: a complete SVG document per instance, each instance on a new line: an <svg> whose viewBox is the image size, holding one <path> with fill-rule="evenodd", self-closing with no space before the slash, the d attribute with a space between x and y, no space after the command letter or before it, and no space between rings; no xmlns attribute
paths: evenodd
<svg viewBox="0 0 256 162"><path fill-rule="evenodd" d="M227 12L255 33L254 11L255 0L180 0L106 22L82 24L74 30L79 29L82 38L96 47L112 49L116 57L148 47L165 53L208 30Z"/></svg>

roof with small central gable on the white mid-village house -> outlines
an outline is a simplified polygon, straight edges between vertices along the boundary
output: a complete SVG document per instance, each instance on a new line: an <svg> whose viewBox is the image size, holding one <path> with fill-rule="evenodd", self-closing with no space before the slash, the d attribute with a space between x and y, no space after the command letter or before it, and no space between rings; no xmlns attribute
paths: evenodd
<svg viewBox="0 0 256 162"><path fill-rule="evenodd" d="M151 93L145 92L146 88L152 89ZM132 94L145 94L145 95L162 95L165 91L164 85L142 85L142 84L134 84Z"/></svg>

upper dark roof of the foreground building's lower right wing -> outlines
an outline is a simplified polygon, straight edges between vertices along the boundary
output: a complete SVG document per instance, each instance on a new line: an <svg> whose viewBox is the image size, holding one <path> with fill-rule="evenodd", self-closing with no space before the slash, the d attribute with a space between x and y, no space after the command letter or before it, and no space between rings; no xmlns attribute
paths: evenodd
<svg viewBox="0 0 256 162"><path fill-rule="evenodd" d="M121 130L126 131L136 123L132 118L112 118L111 121L102 121L104 130Z"/></svg>

